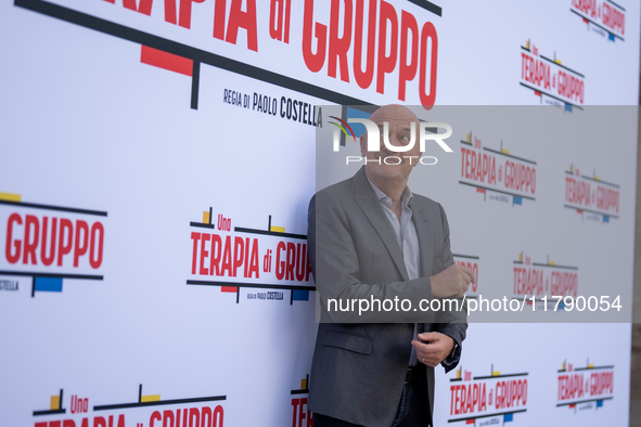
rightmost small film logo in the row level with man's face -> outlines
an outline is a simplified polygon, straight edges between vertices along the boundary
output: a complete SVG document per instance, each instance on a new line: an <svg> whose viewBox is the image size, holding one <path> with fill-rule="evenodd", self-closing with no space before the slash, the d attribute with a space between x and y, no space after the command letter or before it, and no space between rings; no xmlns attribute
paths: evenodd
<svg viewBox="0 0 641 427"><path fill-rule="evenodd" d="M574 164L565 171L565 207L574 209L581 218L610 222L618 219L620 204L619 185L606 182L593 172L592 177L581 174Z"/></svg>

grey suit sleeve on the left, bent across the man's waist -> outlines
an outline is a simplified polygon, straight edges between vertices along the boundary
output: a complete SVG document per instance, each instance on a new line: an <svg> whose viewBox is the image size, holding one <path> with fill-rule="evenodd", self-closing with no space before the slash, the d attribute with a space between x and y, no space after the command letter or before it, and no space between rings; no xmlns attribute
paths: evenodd
<svg viewBox="0 0 641 427"><path fill-rule="evenodd" d="M359 254L357 254L349 220L341 200L326 192L317 193L309 204L308 246L311 270L320 295L321 322L425 323L434 321L434 313L420 310L359 310L364 309L367 305L374 306L376 300L382 303L385 299L394 301L395 298L399 301L409 299L413 307L418 307L421 299L432 298L430 277L407 282L362 283ZM352 301L357 301L356 306L351 306ZM343 311L339 303L344 305L343 308L347 303L350 307Z"/></svg>

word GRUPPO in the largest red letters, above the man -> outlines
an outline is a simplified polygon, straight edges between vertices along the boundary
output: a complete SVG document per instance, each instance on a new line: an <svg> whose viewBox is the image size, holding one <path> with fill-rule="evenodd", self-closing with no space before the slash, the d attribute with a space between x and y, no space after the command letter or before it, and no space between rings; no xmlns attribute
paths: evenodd
<svg viewBox="0 0 641 427"><path fill-rule="evenodd" d="M399 101L406 100L407 83L413 81L418 73L421 105L432 108L436 99L438 54L438 36L434 25L427 21L420 26L414 14L397 10L383 0L380 8L376 0L370 0L367 10L363 1L345 0L343 3L332 1L328 27L316 21L315 1L305 1L303 59L307 68L318 73L326 62L329 77L336 78L339 73L341 80L350 82L351 64L351 74L361 89L372 86L375 74L377 93L386 93L386 75L398 70ZM440 8L437 12L440 16ZM367 40L363 39L366 21ZM343 36L338 37L338 34Z"/></svg>

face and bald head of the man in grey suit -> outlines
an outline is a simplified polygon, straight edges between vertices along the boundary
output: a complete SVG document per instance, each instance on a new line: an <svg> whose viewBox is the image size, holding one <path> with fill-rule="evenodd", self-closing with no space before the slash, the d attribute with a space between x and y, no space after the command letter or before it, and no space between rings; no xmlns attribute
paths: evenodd
<svg viewBox="0 0 641 427"><path fill-rule="evenodd" d="M421 145L419 143L419 119L407 107L401 105L387 105L376 109L370 117L370 120L379 125L381 139L379 141L380 150L377 152L368 152L367 132L360 137L361 155L369 159L366 165L368 174L373 179L407 180L412 168L419 163L419 158L422 154L420 152ZM407 152L394 152L388 150L383 143L384 121L388 122L389 143L393 146L408 145L411 141L411 127L413 126L415 130L414 146ZM413 158L410 158L410 156L413 156ZM399 158L401 160L400 163L398 160ZM379 159L381 161L380 165L377 163Z"/></svg>

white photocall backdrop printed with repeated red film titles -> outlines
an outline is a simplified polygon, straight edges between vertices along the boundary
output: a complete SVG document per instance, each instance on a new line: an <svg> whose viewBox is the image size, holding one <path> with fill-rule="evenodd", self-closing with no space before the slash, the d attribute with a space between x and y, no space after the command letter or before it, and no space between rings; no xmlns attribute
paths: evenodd
<svg viewBox="0 0 641 427"><path fill-rule="evenodd" d="M2 425L311 425L305 234L315 124L333 127L329 106L544 104L572 129L590 105L638 102L631 1L376 1L369 83L354 73L359 1L181 0L174 15L171 3L0 4ZM420 49L403 57L410 16ZM324 26L328 44L316 39ZM323 46L324 60L310 60ZM405 99L402 60L416 66L403 72ZM416 170L410 185L446 208L477 293L513 292L515 268L554 280L574 267L579 290L613 283L629 310L638 116L617 108L616 141L555 150L460 124L454 153ZM462 168L485 148L497 165L536 161L536 200ZM566 200L568 178L618 192L619 204ZM626 424L629 323L469 332L460 370L437 377L437 425Z"/></svg>

